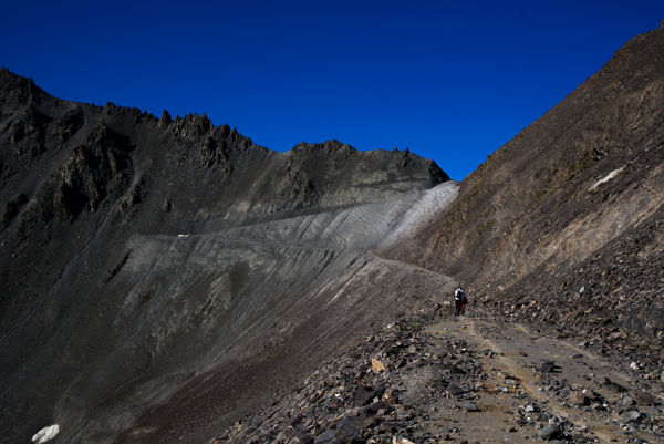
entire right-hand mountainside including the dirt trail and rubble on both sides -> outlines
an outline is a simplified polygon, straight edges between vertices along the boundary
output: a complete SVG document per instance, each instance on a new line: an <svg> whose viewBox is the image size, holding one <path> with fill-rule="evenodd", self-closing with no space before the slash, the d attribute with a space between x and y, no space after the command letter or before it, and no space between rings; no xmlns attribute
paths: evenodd
<svg viewBox="0 0 664 444"><path fill-rule="evenodd" d="M664 442L662 104L664 25L380 246L467 286L467 318L387 313L210 442Z"/></svg>

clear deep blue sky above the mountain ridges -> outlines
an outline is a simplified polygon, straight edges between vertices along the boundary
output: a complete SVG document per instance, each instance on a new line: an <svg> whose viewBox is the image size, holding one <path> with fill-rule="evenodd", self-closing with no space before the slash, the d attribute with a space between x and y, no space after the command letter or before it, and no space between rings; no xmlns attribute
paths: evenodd
<svg viewBox="0 0 664 444"><path fill-rule="evenodd" d="M463 179L663 19L662 0L12 1L0 65L271 149L408 147Z"/></svg>

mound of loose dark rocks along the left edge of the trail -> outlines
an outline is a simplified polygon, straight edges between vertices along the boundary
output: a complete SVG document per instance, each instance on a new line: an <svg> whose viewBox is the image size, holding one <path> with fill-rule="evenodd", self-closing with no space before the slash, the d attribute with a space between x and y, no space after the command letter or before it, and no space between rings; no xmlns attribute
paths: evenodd
<svg viewBox="0 0 664 444"><path fill-rule="evenodd" d="M321 365L297 393L276 400L262 415L236 423L216 440L258 443L269 437L295 443L310 436L314 443L425 443L435 438L416 424L432 417L433 406L445 399L458 400L466 412L478 412L473 400L478 397L474 385L481 369L463 341L447 339L443 349L434 351L432 339L417 326L414 321L387 326L352 353ZM375 371L377 362L384 365L380 371Z"/></svg>

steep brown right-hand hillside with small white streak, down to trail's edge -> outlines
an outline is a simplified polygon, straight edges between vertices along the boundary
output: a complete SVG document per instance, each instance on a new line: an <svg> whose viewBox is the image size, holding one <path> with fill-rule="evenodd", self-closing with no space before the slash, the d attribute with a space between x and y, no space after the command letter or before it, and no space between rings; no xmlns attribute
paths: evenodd
<svg viewBox="0 0 664 444"><path fill-rule="evenodd" d="M391 254L457 277L496 313L614 333L616 347L664 358L663 103L660 27L494 153L443 218Z"/></svg>

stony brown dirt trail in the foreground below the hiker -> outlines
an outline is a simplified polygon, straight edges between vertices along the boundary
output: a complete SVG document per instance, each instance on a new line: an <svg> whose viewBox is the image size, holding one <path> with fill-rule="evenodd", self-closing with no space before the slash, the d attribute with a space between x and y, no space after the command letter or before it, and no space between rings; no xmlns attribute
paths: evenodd
<svg viewBox="0 0 664 444"><path fill-rule="evenodd" d="M426 332L439 340L452 337L466 341L468 352L475 354L484 371L475 386L478 397L473 403L477 411L469 409L468 402L450 396L428 422L435 433L447 433L448 441L533 442L541 424L546 424L542 419L551 416L574 424L577 437L589 441L654 442L652 434L626 434L616 421L618 413L608 409L620 405L624 393L637 386L603 357L566 340L535 334L518 323L495 323L488 317L445 320L429 326ZM546 362L554 366L542 372ZM606 383L606 379L613 383ZM570 405L569 393L583 390L591 397L592 393L599 395L591 401L595 405ZM455 432L452 436L449 427Z"/></svg>

